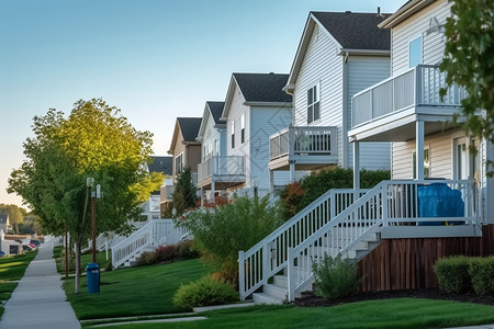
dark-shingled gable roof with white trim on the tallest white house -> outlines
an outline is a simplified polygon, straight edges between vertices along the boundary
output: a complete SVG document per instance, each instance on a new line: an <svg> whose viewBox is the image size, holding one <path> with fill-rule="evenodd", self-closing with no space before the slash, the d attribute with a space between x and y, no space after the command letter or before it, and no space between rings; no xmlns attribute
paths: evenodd
<svg viewBox="0 0 494 329"><path fill-rule="evenodd" d="M353 12L310 12L302 38L296 49L287 86L291 92L305 57L315 26L322 26L338 44L341 54L346 52L361 55L390 56L391 32L379 29L378 24L390 14Z"/></svg>

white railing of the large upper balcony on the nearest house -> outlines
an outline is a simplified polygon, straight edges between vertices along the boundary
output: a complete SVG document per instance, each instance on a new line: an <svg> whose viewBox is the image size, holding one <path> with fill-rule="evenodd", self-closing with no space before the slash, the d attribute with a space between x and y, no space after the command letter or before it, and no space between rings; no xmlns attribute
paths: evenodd
<svg viewBox="0 0 494 329"><path fill-rule="evenodd" d="M446 72L441 72L439 66L418 65L353 95L352 126L412 106L459 107L467 92L454 84L441 99L439 90L446 87Z"/></svg>

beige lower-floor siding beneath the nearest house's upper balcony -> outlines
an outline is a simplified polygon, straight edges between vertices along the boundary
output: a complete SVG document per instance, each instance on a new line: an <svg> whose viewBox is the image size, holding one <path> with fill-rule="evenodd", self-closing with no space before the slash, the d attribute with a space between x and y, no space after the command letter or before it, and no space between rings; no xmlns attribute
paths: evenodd
<svg viewBox="0 0 494 329"><path fill-rule="evenodd" d="M448 132L427 136L424 146L429 149L429 177L452 179L452 143L454 138L464 136L461 131ZM392 179L413 178L413 152L415 140L393 143Z"/></svg>

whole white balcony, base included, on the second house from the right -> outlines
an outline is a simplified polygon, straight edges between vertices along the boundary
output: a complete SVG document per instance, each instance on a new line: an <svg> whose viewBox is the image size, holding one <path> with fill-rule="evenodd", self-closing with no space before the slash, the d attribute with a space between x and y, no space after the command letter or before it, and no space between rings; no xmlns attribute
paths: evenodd
<svg viewBox="0 0 494 329"><path fill-rule="evenodd" d="M337 127L288 127L269 137L270 170L312 170L338 162Z"/></svg>

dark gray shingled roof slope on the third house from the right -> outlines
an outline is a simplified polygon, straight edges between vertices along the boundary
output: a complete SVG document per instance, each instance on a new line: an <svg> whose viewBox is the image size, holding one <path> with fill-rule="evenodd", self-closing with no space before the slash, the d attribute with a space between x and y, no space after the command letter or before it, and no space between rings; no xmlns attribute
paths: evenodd
<svg viewBox="0 0 494 329"><path fill-rule="evenodd" d="M282 88L289 75L234 73L246 102L291 102L292 97Z"/></svg>

